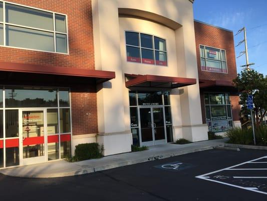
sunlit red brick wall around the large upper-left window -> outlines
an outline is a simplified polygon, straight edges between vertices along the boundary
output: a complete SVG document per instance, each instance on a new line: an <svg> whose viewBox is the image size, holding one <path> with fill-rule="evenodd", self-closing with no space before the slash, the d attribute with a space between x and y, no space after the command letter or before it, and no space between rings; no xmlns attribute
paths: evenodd
<svg viewBox="0 0 267 201"><path fill-rule="evenodd" d="M91 0L11 0L68 16L69 55L0 47L0 61L94 69Z"/></svg>

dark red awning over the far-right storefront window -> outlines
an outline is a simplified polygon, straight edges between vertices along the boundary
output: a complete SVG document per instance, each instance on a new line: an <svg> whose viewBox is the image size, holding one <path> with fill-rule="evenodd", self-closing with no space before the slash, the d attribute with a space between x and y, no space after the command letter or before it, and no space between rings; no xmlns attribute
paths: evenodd
<svg viewBox="0 0 267 201"><path fill-rule="evenodd" d="M234 87L232 81L228 80L199 80L199 88L200 89L212 89L212 90L225 90L225 91L233 91L236 92L237 89Z"/></svg>

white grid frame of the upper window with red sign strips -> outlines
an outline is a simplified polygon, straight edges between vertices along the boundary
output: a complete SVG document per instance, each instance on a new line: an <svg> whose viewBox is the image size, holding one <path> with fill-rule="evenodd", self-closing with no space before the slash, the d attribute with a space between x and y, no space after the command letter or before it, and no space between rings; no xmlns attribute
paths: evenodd
<svg viewBox="0 0 267 201"><path fill-rule="evenodd" d="M137 33L138 34L138 37L139 37L139 46L135 46L135 45L128 45L127 43L126 43L126 32L132 32L132 33ZM142 47L141 46L141 34L145 34L145 35L149 35L149 36L152 36L152 46L153 46L153 48L151 49L151 48L146 48L146 47ZM164 40L165 41L165 47L166 47L166 50L164 51L164 50L157 50L157 49L155 49L155 39L154 39L154 37L157 37L157 38L159 38L159 39L162 39L162 40ZM168 65L169 65L169 62L168 62L168 51L167 51L167 40L165 39L165 38L162 38L162 37L159 37L159 36L157 36L157 35L152 35L152 34L149 34L149 33L144 33L144 32L137 32L137 31L131 31L131 30L124 30L124 43L125 43L125 52L126 52L126 57L125 57L125 60L126 60L126 62L130 62L130 63L140 63L140 64L147 64L147 65L154 65L154 66L162 66L162 67L168 67ZM139 48L139 51L140 51L140 62L134 62L134 61L128 61L127 60L127 46L129 46L129 47L135 47L135 48ZM143 63L142 62L142 49L147 49L147 50L152 50L153 51L153 60L154 60L154 64L149 64L149 63ZM165 52L166 53L166 63L167 63L167 65L157 65L156 64L156 53L155 53L155 51L158 51L158 52Z"/></svg>

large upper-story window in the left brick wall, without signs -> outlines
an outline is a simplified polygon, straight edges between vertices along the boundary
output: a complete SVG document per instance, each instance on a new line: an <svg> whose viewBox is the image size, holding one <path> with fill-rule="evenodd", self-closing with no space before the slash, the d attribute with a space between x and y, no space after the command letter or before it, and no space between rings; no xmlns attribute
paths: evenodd
<svg viewBox="0 0 267 201"><path fill-rule="evenodd" d="M68 53L67 16L0 1L0 45Z"/></svg>

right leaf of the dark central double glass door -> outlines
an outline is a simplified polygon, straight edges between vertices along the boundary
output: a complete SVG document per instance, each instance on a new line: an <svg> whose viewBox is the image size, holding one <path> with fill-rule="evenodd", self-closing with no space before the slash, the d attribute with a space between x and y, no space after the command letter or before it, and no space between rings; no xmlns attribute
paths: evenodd
<svg viewBox="0 0 267 201"><path fill-rule="evenodd" d="M164 126L164 113L162 108L152 108L153 111L153 134L154 145L165 144L165 126Z"/></svg>

